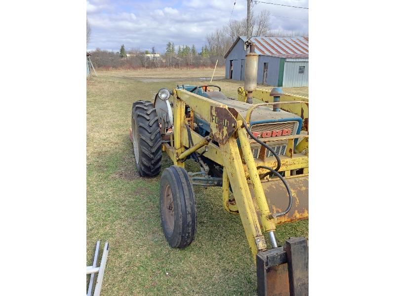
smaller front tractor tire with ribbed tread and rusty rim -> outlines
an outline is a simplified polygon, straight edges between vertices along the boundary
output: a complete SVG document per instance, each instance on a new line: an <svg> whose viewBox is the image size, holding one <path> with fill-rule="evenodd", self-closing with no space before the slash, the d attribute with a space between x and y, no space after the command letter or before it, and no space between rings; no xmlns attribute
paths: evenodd
<svg viewBox="0 0 395 296"><path fill-rule="evenodd" d="M185 169L172 165L160 179L160 218L172 248L189 246L196 234L196 201L193 185Z"/></svg>

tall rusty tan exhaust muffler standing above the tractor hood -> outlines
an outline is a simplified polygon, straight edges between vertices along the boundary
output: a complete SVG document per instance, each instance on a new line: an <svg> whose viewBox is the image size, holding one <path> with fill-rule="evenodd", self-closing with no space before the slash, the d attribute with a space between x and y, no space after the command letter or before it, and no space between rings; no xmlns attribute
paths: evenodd
<svg viewBox="0 0 395 296"><path fill-rule="evenodd" d="M247 92L247 103L252 104L252 92L256 90L258 75L258 54L255 52L255 44L247 41L250 52L245 55L244 90Z"/></svg>

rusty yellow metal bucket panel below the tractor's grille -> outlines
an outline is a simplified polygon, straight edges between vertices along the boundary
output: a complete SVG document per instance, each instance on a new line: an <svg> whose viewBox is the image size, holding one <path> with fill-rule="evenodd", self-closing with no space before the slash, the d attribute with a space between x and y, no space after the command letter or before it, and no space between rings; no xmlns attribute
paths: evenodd
<svg viewBox="0 0 395 296"><path fill-rule="evenodd" d="M289 213L285 216L276 218L276 224L298 221L309 218L309 176L292 176L285 179L291 189L293 201ZM249 189L255 208L258 209L254 198L252 184ZM262 182L263 191L269 204L271 213L279 213L288 206L288 193L281 180ZM257 210L259 212L259 210ZM260 215L260 213L257 213ZM259 217L259 216L258 216ZM262 226L262 225L261 225Z"/></svg>

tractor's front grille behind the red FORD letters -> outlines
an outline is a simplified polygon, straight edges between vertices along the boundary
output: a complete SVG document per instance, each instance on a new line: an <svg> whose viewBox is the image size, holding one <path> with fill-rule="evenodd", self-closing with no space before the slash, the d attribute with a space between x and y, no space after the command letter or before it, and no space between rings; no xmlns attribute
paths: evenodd
<svg viewBox="0 0 395 296"><path fill-rule="evenodd" d="M264 124L255 124L255 125L251 126L251 132L262 133L262 132L267 132L267 131L290 129L292 131L292 135L295 135L297 128L298 128L297 121L281 122L281 123L264 123ZM273 145L273 146L270 144L269 145L273 150L275 150L275 152L278 155L285 155L285 151L287 148L287 141L286 140L272 142L272 143L276 144L276 145ZM254 158L258 158L261 148L262 148L261 146L252 148L252 154L254 155ZM268 149L266 149L266 157L273 157L273 153L270 152Z"/></svg>

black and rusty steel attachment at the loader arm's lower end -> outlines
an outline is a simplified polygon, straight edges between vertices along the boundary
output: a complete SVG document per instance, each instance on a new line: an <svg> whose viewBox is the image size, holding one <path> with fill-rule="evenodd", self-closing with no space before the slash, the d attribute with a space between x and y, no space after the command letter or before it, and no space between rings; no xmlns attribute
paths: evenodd
<svg viewBox="0 0 395 296"><path fill-rule="evenodd" d="M283 247L258 252L258 296L309 295L309 245L305 237L291 237Z"/></svg>

